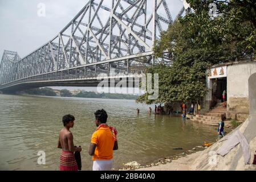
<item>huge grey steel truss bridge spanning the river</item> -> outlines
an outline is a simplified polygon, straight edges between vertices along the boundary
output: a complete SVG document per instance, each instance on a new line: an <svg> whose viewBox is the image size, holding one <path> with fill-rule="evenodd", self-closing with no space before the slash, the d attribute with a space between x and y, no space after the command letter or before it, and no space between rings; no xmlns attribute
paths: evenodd
<svg viewBox="0 0 256 182"><path fill-rule="evenodd" d="M173 18L166 1L88 1L58 35L29 55L3 52L0 90L96 86L103 78L134 80L148 65L171 64L167 56L155 59L153 44L169 24L191 10L173 0L181 4Z"/></svg>

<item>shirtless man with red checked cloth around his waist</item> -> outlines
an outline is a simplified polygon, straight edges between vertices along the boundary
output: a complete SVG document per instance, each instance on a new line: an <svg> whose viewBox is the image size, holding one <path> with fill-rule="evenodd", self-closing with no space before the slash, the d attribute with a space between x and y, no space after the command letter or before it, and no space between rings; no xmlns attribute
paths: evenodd
<svg viewBox="0 0 256 182"><path fill-rule="evenodd" d="M62 148L59 162L60 171L78 171L78 164L76 163L74 152L82 151L81 147L75 147L73 143L73 134L70 131L74 127L75 117L68 114L62 118L63 129L59 132L58 148Z"/></svg>

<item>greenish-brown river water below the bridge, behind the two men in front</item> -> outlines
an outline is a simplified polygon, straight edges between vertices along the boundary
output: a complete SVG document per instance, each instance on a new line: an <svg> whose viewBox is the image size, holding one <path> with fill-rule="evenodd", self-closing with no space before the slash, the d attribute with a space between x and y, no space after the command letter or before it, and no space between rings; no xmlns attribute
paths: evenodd
<svg viewBox="0 0 256 182"><path fill-rule="evenodd" d="M140 114L136 113L137 107ZM180 154L173 148L191 150L204 142L215 142L216 127L201 125L180 117L148 113L148 105L134 100L12 96L0 94L0 170L58 170L58 134L65 114L75 116L71 129L74 144L82 151L82 169L92 169L88 155L94 133L97 109L108 113L108 125L115 126L119 150L114 151L114 168L136 161L152 161ZM38 152L46 154L46 164L38 164Z"/></svg>

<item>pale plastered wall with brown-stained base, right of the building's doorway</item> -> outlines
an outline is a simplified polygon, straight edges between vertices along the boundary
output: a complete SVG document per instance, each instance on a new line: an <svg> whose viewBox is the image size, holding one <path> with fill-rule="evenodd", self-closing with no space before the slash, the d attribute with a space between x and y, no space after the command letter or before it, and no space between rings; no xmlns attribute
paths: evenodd
<svg viewBox="0 0 256 182"><path fill-rule="evenodd" d="M249 115L249 77L256 73L256 61L227 66L227 111L237 113L237 120Z"/></svg>

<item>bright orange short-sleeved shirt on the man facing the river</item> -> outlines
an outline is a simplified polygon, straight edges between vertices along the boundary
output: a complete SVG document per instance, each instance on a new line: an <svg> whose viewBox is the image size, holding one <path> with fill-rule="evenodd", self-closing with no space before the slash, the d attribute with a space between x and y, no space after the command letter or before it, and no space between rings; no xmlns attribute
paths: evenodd
<svg viewBox="0 0 256 182"><path fill-rule="evenodd" d="M109 160L113 158L115 140L109 127L100 127L92 134L91 143L95 143L96 149L92 160Z"/></svg>

